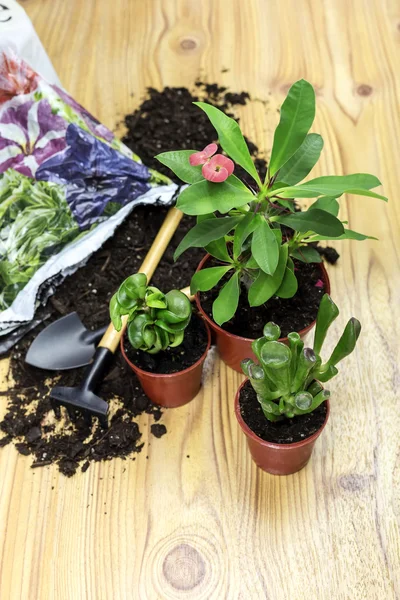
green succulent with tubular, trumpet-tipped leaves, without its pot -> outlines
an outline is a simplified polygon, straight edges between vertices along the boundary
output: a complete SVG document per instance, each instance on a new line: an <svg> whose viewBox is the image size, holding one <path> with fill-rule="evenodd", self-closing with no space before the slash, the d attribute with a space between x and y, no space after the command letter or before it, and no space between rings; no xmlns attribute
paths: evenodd
<svg viewBox="0 0 400 600"><path fill-rule="evenodd" d="M252 349L259 364L247 358L242 361L264 415L269 421L280 421L314 411L330 397L323 388L338 373L337 363L353 352L360 322L351 318L331 356L321 359L321 349L329 327L339 314L328 294L322 297L317 316L313 348L304 348L298 333L289 333L289 346L278 342L280 328L267 323L263 337L255 340Z"/></svg>

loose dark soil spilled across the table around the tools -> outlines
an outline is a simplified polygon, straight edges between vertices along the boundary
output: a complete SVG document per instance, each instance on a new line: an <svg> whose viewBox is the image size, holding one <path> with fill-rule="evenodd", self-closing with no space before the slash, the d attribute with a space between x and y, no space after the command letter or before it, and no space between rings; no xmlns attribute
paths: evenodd
<svg viewBox="0 0 400 600"><path fill-rule="evenodd" d="M191 95L184 88L166 88L161 92L149 90L149 97L139 109L126 117L129 132L125 142L146 164L159 170L163 167L153 158L158 152L183 147L202 149L212 141L215 132L202 111L192 105L197 98L230 112L235 104L243 104L248 94L228 93L214 84L198 84L196 95ZM182 120L182 114L186 115L187 111L187 118ZM168 118L172 125L165 122ZM257 151L254 144L251 148L253 153ZM265 161L260 159L260 164L265 171ZM166 433L165 425L159 423L162 411L142 392L119 353L99 390L99 395L110 402L108 431L103 431L97 421L93 421L92 428L83 419L72 423L64 414L61 421L55 421L50 410L48 394L56 381L60 385L78 385L82 369L55 376L53 372L30 367L24 362L34 337L43 327L63 315L76 310L90 329L108 322L111 295L124 278L139 268L166 211L162 207L134 210L86 266L65 279L47 305L38 309L35 318L42 320L42 324L10 352L10 377L15 384L10 391L0 390L1 401L8 398L7 412L0 423L3 434L0 446L13 442L21 454L33 456L32 467L56 463L62 473L71 476L79 468L85 471L92 461L127 456L134 458L143 447L142 435L135 421L142 413L147 413L154 421L150 430L156 438ZM193 249L176 263L173 261L175 248L193 223L192 218L183 218L154 275L154 285L164 291L189 285L204 254L201 249Z"/></svg>

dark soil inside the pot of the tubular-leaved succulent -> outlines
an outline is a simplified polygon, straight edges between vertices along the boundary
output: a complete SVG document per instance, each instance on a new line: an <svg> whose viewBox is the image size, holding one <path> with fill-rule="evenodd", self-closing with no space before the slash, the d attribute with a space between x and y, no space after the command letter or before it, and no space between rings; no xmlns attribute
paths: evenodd
<svg viewBox="0 0 400 600"><path fill-rule="evenodd" d="M266 442L292 444L313 435L326 417L326 402L307 415L271 423L265 418L257 395L249 381L243 386L239 398L240 414L250 429Z"/></svg>

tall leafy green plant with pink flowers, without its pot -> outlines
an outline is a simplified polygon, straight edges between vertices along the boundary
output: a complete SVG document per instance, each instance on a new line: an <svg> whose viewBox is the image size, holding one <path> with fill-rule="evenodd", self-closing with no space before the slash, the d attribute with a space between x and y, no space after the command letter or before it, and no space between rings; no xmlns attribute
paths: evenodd
<svg viewBox="0 0 400 600"><path fill-rule="evenodd" d="M234 316L243 290L250 306L260 306L272 296L292 297L298 287L293 259L321 261L313 242L370 237L344 226L346 222L338 218L339 197L348 193L387 198L371 191L380 181L365 173L317 177L301 183L323 148L322 137L309 133L315 94L303 79L290 88L281 107L264 180L238 123L215 106L195 104L210 119L228 156L218 154L217 144L211 143L201 151L165 152L157 158L189 184L177 207L197 216L197 224L179 244L175 259L190 247L204 247L217 259L217 266L193 276L191 291L210 290L223 280L213 304L214 320L221 325ZM235 163L250 176L250 185L235 176ZM308 210L298 211L296 198L314 202ZM285 235L281 226L290 228L291 235Z"/></svg>

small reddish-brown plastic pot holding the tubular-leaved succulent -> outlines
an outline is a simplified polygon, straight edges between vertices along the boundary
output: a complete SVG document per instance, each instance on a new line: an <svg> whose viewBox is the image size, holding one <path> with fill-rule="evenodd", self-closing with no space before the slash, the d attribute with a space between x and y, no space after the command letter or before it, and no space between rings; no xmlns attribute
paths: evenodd
<svg viewBox="0 0 400 600"><path fill-rule="evenodd" d="M291 475L300 471L310 460L315 442L328 422L330 413L329 400L326 401L326 417L322 426L313 435L293 444L273 444L258 437L245 423L240 413L240 393L247 383L243 381L235 397L235 414L239 425L247 438L250 454L260 469L271 475Z"/></svg>

